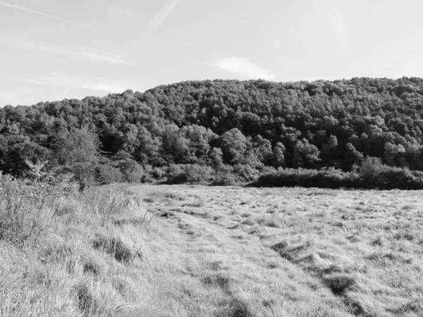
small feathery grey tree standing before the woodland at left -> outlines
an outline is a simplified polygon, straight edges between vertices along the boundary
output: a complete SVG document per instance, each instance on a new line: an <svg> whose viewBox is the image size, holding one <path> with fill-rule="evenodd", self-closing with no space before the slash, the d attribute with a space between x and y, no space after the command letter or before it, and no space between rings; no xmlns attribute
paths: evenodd
<svg viewBox="0 0 423 317"><path fill-rule="evenodd" d="M102 156L98 135L87 128L61 130L54 146L54 156L59 164L68 168L83 191L95 169L106 163Z"/></svg>

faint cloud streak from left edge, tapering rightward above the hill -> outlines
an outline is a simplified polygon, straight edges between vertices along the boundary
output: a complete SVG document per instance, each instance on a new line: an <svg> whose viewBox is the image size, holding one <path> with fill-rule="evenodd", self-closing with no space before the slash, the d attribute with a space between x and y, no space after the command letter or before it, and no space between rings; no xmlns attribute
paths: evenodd
<svg viewBox="0 0 423 317"><path fill-rule="evenodd" d="M135 66L129 63L128 61L126 61L125 58L123 58L123 56L119 56L116 54L111 54L108 52L99 54L99 53L85 51L83 49L78 49L78 48L58 49L54 46L49 46L47 44L34 42L30 39L23 39L22 37L11 37L6 35L0 35L0 47L1 46L13 47L15 49L31 49L31 50L36 49L41 51L48 51L52 54L80 56L80 57L89 58L93 61L98 61L98 62Z"/></svg>

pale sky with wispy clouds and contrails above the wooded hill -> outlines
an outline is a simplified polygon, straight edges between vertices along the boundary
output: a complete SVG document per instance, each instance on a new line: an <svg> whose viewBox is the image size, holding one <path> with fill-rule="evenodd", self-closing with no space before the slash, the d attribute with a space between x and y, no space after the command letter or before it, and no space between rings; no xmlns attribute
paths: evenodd
<svg viewBox="0 0 423 317"><path fill-rule="evenodd" d="M0 106L185 80L423 77L420 0L0 0Z"/></svg>

